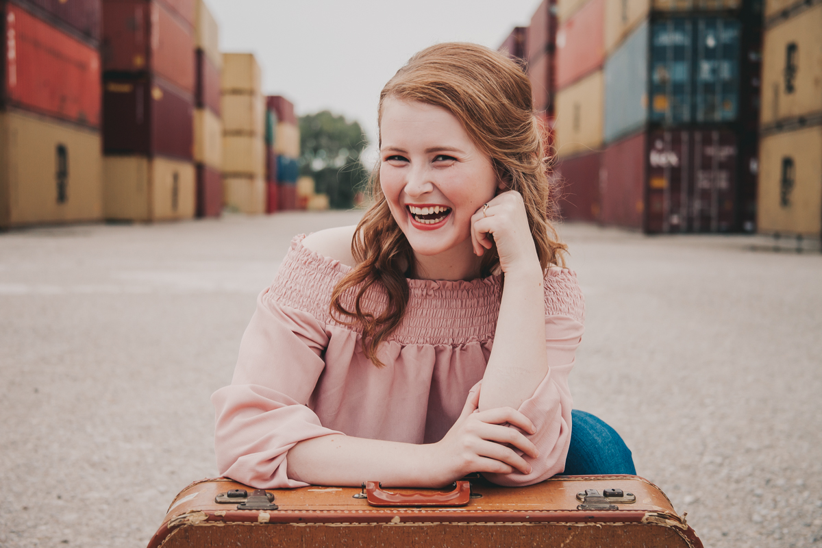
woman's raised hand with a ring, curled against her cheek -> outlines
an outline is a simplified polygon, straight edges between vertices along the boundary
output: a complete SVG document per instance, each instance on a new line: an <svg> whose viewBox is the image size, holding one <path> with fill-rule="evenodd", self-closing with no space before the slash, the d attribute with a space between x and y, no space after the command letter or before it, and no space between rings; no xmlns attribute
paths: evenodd
<svg viewBox="0 0 822 548"><path fill-rule="evenodd" d="M480 207L471 217L473 252L483 256L485 250L496 243L500 267L506 274L521 267L538 266L537 248L520 193L503 192L488 202L485 211L483 209Z"/></svg>

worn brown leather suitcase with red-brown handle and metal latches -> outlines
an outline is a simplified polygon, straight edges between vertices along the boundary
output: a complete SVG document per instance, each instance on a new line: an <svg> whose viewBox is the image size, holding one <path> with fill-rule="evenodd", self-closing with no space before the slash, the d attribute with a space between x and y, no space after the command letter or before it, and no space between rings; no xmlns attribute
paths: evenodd
<svg viewBox="0 0 822 548"><path fill-rule="evenodd" d="M667 496L636 476L554 477L534 486L481 478L453 490L253 490L226 478L177 495L149 548L419 546L563 548L702 542Z"/></svg>

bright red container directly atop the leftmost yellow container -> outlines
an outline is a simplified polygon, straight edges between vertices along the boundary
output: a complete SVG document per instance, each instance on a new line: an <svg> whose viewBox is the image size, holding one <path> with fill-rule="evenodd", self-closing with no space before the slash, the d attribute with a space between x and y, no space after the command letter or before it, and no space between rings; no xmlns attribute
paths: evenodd
<svg viewBox="0 0 822 548"><path fill-rule="evenodd" d="M100 123L100 60L95 48L6 4L2 103L78 122Z"/></svg>

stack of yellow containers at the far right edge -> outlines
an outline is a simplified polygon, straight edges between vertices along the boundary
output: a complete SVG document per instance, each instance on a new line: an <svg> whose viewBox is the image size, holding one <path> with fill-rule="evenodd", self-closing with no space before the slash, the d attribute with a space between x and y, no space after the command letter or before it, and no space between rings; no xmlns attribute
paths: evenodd
<svg viewBox="0 0 822 548"><path fill-rule="evenodd" d="M822 236L822 3L765 2L758 229Z"/></svg>

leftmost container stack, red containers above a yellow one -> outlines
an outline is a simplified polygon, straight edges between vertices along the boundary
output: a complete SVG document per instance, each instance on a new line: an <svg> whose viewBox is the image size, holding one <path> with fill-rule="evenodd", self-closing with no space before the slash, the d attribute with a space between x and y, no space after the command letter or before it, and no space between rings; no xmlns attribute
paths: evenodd
<svg viewBox="0 0 822 548"><path fill-rule="evenodd" d="M100 2L0 11L0 228L101 219Z"/></svg>

